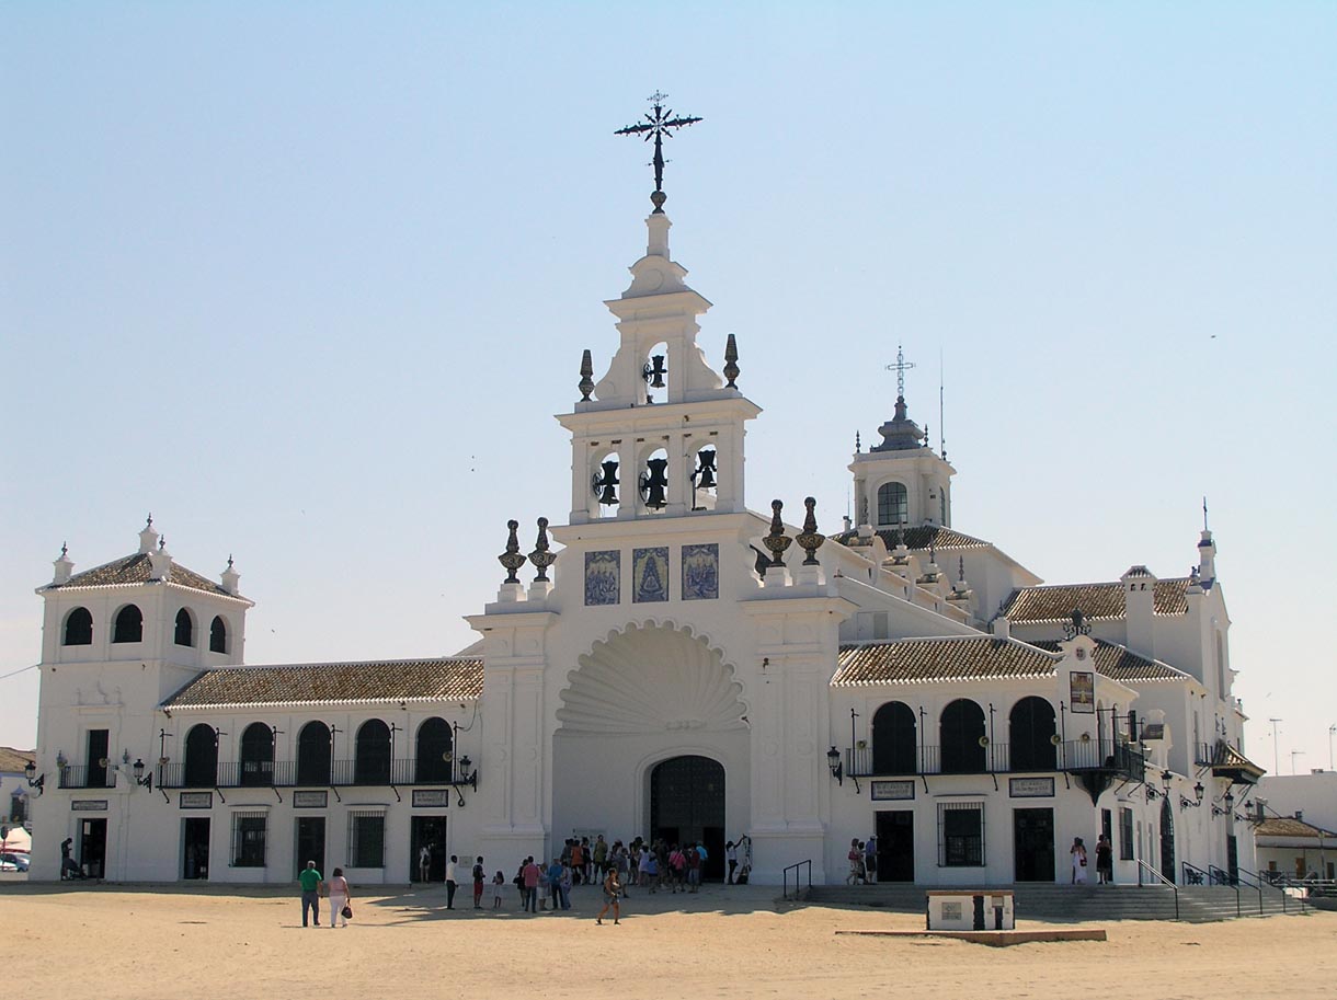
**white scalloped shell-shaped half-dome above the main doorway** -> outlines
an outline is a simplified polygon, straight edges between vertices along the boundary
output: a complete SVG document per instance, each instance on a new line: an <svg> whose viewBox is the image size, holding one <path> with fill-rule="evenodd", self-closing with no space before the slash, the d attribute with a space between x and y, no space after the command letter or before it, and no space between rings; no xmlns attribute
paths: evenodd
<svg viewBox="0 0 1337 1000"><path fill-rule="evenodd" d="M567 731L743 729L733 667L690 630L630 626L596 642L567 678L558 709Z"/></svg>

